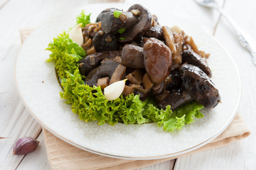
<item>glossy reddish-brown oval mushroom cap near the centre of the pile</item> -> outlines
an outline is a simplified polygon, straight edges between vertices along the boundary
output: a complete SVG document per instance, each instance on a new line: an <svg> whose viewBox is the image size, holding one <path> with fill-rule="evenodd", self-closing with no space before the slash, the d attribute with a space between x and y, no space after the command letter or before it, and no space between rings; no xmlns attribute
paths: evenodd
<svg viewBox="0 0 256 170"><path fill-rule="evenodd" d="M164 42L149 38L144 44L146 74L155 84L160 84L171 71L171 50Z"/></svg>

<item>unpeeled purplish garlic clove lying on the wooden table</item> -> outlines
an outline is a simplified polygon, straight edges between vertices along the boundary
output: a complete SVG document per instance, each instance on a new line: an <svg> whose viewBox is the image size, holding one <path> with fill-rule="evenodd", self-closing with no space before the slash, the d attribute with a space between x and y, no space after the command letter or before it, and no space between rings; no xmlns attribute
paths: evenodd
<svg viewBox="0 0 256 170"><path fill-rule="evenodd" d="M39 141L35 140L33 137L22 137L14 145L13 154L22 155L28 154L36 150L39 145Z"/></svg>

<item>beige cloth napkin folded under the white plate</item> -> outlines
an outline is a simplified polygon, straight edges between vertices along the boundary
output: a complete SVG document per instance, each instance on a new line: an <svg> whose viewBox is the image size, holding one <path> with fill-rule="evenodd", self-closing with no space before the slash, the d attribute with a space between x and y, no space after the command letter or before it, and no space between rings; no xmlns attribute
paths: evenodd
<svg viewBox="0 0 256 170"><path fill-rule="evenodd" d="M33 29L22 29L21 42L23 42ZM241 140L250 135L250 130L247 127L245 121L241 118L240 113L235 115L232 123L228 128L216 137L212 142L200 147L192 152L181 154L177 157L169 157L165 159L154 159L154 160L127 160L127 159L115 159L111 157L104 157L98 154L93 154L85 150L74 147L73 145L60 140L55 135L48 132L43 128L43 135L46 142L46 151L48 154L48 161L52 170L85 170L85 169L139 169L144 166L150 166L152 164L158 164L166 162L171 159L178 157L187 156L202 152L208 149L214 149L217 147L223 147L229 145L231 142Z"/></svg>

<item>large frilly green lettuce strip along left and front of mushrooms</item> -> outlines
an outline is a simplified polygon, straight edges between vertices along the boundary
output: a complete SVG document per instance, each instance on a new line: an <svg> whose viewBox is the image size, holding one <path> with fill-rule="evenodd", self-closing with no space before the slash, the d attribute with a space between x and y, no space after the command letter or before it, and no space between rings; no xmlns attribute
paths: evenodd
<svg viewBox="0 0 256 170"><path fill-rule="evenodd" d="M171 111L159 109L151 98L141 101L139 95L120 96L114 101L107 101L100 87L87 86L78 69L78 62L85 57L85 51L73 42L67 33L58 35L50 42L52 52L48 62L55 62L55 69L61 79L63 92L60 97L71 105L73 113L85 122L97 121L98 125L108 123L142 124L157 123L168 132L181 130L192 123L194 118L202 118L203 106L196 101Z"/></svg>

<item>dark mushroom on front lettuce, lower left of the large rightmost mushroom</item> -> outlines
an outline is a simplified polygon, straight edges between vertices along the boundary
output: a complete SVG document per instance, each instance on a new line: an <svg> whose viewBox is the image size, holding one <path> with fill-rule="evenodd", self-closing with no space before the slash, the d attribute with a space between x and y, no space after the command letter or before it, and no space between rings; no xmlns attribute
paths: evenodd
<svg viewBox="0 0 256 170"><path fill-rule="evenodd" d="M171 94L158 103L158 106L166 109L166 106L170 105L171 110L174 111L176 108L183 106L192 100L193 98L186 91L183 91L182 93L179 91L172 91Z"/></svg>

